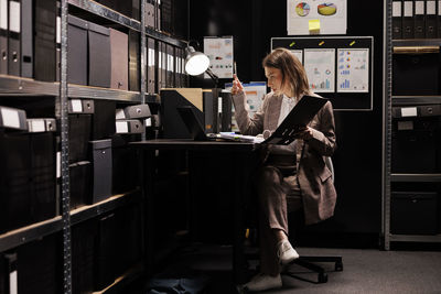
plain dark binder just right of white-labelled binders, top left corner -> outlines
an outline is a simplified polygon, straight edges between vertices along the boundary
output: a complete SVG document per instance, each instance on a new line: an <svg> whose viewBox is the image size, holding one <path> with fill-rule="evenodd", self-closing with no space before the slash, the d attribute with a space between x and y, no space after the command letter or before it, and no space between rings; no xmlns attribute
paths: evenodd
<svg viewBox="0 0 441 294"><path fill-rule="evenodd" d="M33 77L32 0L21 0L21 76Z"/></svg>

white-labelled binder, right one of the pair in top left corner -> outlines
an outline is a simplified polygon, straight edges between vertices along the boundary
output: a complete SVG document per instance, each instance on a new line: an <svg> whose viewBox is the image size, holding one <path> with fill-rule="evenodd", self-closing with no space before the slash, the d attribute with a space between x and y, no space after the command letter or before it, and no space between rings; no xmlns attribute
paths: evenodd
<svg viewBox="0 0 441 294"><path fill-rule="evenodd" d="M20 76L20 2L9 1L8 74Z"/></svg>

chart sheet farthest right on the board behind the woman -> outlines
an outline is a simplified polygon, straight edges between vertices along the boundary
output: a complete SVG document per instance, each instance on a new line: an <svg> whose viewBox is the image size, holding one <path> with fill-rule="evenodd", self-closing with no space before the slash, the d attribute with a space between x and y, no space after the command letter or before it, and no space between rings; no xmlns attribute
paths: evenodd
<svg viewBox="0 0 441 294"><path fill-rule="evenodd" d="M337 50L337 91L369 91L369 50Z"/></svg>

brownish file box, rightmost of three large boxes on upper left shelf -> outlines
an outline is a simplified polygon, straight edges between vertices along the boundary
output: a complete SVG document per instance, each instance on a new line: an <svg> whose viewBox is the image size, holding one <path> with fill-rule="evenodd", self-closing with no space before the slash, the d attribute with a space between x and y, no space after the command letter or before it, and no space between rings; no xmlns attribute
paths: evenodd
<svg viewBox="0 0 441 294"><path fill-rule="evenodd" d="M110 29L111 74L110 88L129 89L129 43L128 35Z"/></svg>

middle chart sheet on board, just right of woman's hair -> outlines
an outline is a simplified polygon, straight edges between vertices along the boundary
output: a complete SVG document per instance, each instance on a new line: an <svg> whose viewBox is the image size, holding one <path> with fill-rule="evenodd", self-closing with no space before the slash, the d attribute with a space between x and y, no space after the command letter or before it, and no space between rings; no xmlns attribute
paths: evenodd
<svg viewBox="0 0 441 294"><path fill-rule="evenodd" d="M335 91L335 48L305 48L304 69L313 91Z"/></svg>

